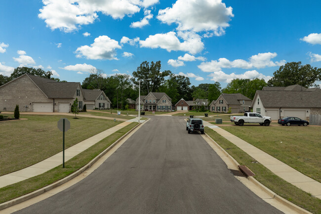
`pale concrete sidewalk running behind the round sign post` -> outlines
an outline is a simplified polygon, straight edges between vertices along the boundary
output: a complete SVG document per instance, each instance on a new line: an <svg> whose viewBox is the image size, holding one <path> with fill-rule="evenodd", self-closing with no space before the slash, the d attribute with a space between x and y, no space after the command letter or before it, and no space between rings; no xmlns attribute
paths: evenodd
<svg viewBox="0 0 321 214"><path fill-rule="evenodd" d="M89 137L88 139L85 139L85 140L81 141L80 143L78 143L68 149L65 149L65 162L72 159L73 157L80 154L81 152L83 152L84 150L86 150L90 146L96 144L97 142L104 139L105 137L118 131L120 128L123 128L123 127L131 124L132 122L138 122L138 118L123 122L115 127L109 128L105 131L102 131L102 132L92 136L92 137ZM142 123L144 121L140 120L140 122ZM28 179L30 177L37 176L39 174L42 174L46 171L49 171L49 170L55 168L61 164L62 164L62 152L60 152L54 156L51 156L51 157L33 165L33 166L30 166L25 169L0 176L0 188L10 185L10 184L13 184L13 183L20 182L20 181Z"/></svg>

